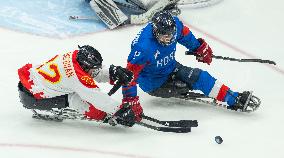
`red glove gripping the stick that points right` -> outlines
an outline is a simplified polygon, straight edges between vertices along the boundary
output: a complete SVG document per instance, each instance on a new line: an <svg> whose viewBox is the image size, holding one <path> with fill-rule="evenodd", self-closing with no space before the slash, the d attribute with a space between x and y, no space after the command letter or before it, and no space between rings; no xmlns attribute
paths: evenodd
<svg viewBox="0 0 284 158"><path fill-rule="evenodd" d="M199 38L198 41L200 42L199 48L194 52L196 56L196 60L198 62L207 63L210 65L212 62L212 49L210 46L204 41L204 39Z"/></svg>

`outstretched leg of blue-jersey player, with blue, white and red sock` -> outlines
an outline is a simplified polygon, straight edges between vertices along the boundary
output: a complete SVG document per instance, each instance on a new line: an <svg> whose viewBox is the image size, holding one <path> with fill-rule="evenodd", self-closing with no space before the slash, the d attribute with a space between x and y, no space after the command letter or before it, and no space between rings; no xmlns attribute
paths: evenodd
<svg viewBox="0 0 284 158"><path fill-rule="evenodd" d="M189 68L177 63L174 77L186 83L187 86L193 90L200 90L208 97L226 102L229 108L234 110L246 110L247 106L258 108L260 104L260 100L253 96L252 92L244 91L239 93L232 91L228 86L211 76L207 71L201 69Z"/></svg>

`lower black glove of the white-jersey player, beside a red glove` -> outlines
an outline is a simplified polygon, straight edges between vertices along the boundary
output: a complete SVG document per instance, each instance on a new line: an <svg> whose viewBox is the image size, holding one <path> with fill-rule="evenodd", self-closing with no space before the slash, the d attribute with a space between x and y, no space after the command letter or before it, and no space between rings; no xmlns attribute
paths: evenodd
<svg viewBox="0 0 284 158"><path fill-rule="evenodd" d="M135 113L130 106L122 105L114 116L116 116L116 122L118 124L132 127L135 124Z"/></svg>

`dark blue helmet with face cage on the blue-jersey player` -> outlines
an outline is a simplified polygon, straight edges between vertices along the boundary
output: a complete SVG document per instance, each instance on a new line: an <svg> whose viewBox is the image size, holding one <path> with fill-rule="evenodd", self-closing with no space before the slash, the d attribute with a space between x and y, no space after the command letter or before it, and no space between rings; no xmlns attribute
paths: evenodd
<svg viewBox="0 0 284 158"><path fill-rule="evenodd" d="M153 34L162 45L170 45L176 40L176 22L172 14L163 10L157 12L152 18ZM168 41L161 41L160 37L168 35L171 37Z"/></svg>

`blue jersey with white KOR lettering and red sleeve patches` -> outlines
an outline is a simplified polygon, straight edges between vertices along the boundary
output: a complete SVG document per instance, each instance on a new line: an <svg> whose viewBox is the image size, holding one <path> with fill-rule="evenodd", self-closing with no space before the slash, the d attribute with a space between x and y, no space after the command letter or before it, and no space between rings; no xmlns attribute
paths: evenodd
<svg viewBox="0 0 284 158"><path fill-rule="evenodd" d="M176 65L177 43L184 45L191 52L200 46L199 41L188 27L184 26L177 17L174 17L174 20L177 31L174 35L176 40L172 44L165 46L157 41L153 35L152 23L148 23L132 41L127 67L134 72L135 81L145 92L153 91L167 81ZM132 86L136 85L132 84ZM133 96L136 93L136 87L124 87L124 96L128 94Z"/></svg>

